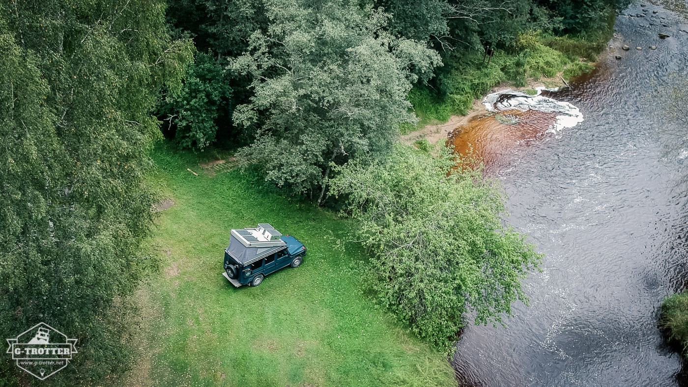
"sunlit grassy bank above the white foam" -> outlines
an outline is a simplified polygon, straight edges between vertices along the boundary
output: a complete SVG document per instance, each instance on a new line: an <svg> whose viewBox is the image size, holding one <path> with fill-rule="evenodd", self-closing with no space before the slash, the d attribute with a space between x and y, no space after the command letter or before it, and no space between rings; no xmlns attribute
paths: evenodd
<svg viewBox="0 0 688 387"><path fill-rule="evenodd" d="M537 83L557 87L563 85L559 76L568 81L589 72L594 68L592 62L597 54L612 36L613 14L610 18L608 30L594 38L531 32L519 35L513 50L495 50L489 65L483 63L482 53L450 62L451 69L440 80L444 93L424 86L411 90L409 100L420 121L415 128L402 128L402 132L405 134L429 123L447 122L451 115L466 115L473 107L473 100L482 98L502 82L521 88Z"/></svg>

